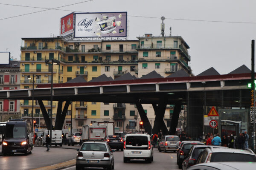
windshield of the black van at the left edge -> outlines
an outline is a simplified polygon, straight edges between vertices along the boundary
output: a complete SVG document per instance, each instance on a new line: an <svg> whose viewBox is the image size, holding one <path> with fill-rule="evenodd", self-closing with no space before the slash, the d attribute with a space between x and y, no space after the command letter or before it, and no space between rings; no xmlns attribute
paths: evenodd
<svg viewBox="0 0 256 170"><path fill-rule="evenodd" d="M6 138L25 138L26 124L6 124Z"/></svg>

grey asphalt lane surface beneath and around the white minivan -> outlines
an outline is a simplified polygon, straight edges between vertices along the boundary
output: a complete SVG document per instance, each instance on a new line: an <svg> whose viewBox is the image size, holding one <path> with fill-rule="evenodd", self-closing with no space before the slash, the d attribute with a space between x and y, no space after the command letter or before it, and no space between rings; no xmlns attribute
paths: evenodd
<svg viewBox="0 0 256 170"><path fill-rule="evenodd" d="M149 164L144 160L132 160L129 163L123 163L122 151L114 152L115 170L180 170L176 164L176 153L160 153L154 149L154 161ZM75 166L64 168L62 170L76 170ZM102 170L102 168L85 168L84 170Z"/></svg>

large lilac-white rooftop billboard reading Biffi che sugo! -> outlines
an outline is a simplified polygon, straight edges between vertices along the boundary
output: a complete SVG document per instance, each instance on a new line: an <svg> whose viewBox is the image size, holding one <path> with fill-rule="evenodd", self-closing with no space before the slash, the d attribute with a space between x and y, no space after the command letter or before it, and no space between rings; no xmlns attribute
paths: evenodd
<svg viewBox="0 0 256 170"><path fill-rule="evenodd" d="M126 37L127 12L75 13L74 37Z"/></svg>

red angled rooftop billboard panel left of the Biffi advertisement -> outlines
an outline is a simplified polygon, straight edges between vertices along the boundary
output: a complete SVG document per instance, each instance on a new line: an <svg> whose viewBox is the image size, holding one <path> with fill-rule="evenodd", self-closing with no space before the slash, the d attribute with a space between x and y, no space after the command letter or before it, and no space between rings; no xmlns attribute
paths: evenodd
<svg viewBox="0 0 256 170"><path fill-rule="evenodd" d="M61 36L66 36L74 32L73 18L74 18L74 13L68 14L65 17L61 18Z"/></svg>

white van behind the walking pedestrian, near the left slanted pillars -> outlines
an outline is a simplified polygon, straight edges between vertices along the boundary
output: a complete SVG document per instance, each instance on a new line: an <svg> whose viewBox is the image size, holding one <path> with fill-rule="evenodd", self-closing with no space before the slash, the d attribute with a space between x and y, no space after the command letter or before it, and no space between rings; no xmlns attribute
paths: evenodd
<svg viewBox="0 0 256 170"><path fill-rule="evenodd" d="M46 136L48 135L49 133L49 136L50 135L50 130L44 130L44 133L43 133L43 145L46 144L45 140L46 140ZM52 145L57 146L57 145L60 145L62 146L62 131L61 130L52 130Z"/></svg>

